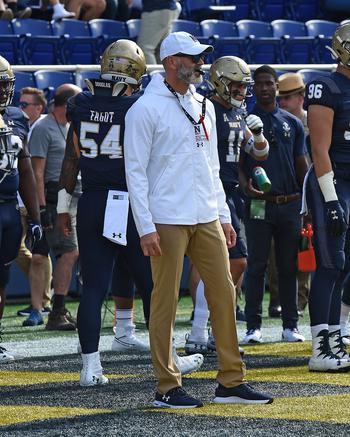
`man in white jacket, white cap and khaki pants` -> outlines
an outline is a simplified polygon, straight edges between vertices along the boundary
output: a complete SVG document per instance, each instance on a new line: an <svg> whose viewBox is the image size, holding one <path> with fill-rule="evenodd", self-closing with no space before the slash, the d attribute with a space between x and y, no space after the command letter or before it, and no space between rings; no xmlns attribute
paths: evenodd
<svg viewBox="0 0 350 437"><path fill-rule="evenodd" d="M155 76L126 116L128 190L154 282L149 328L158 379L156 407L203 406L182 389L171 354L185 254L205 283L217 339L220 370L214 401L272 402L245 383L226 247L235 244L236 235L219 178L215 111L191 86L202 80L201 66L212 50L186 32L167 36L160 49L165 80Z"/></svg>

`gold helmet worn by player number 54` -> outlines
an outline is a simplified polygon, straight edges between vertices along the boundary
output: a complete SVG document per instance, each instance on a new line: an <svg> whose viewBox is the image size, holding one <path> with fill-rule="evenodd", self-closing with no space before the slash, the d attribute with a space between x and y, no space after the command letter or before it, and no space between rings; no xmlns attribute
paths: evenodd
<svg viewBox="0 0 350 437"><path fill-rule="evenodd" d="M145 73L145 55L133 41L119 39L110 44L102 55L102 79L138 86Z"/></svg>

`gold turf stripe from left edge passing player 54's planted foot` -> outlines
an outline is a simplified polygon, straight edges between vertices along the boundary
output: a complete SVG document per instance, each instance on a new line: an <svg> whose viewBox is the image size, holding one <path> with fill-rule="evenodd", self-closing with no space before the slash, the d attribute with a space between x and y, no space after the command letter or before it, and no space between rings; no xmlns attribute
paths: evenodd
<svg viewBox="0 0 350 437"><path fill-rule="evenodd" d="M110 374L110 379L135 378L139 375ZM0 371L0 387L79 381L79 373Z"/></svg>

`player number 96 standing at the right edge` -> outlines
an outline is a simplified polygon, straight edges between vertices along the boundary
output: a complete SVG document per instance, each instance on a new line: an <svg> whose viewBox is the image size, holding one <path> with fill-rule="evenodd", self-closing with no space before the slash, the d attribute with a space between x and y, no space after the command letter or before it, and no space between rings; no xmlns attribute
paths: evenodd
<svg viewBox="0 0 350 437"><path fill-rule="evenodd" d="M342 283L350 270L350 23L336 29L329 49L336 71L308 83L305 93L314 163L306 196L317 262L309 300L309 369L319 372L350 368L339 324Z"/></svg>

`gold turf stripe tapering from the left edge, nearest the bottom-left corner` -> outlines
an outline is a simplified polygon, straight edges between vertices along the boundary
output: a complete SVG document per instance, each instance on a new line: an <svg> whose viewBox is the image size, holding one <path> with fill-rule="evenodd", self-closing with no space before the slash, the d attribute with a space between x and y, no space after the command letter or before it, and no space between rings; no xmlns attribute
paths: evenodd
<svg viewBox="0 0 350 437"><path fill-rule="evenodd" d="M0 427L35 420L63 419L76 416L112 413L112 410L73 408L73 407L38 407L33 405L0 406ZM0 430L1 434L1 430Z"/></svg>

